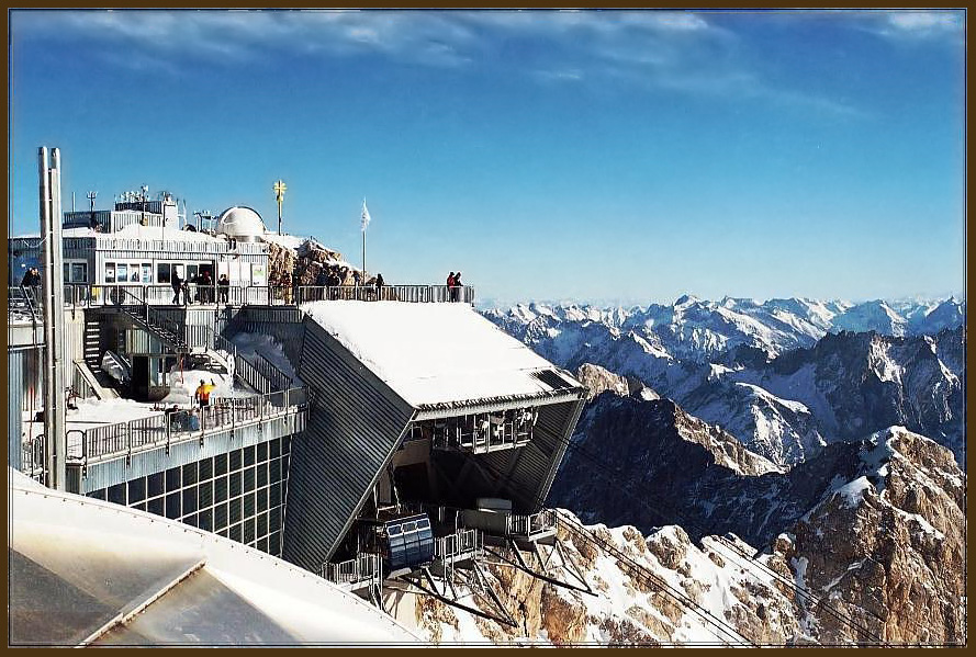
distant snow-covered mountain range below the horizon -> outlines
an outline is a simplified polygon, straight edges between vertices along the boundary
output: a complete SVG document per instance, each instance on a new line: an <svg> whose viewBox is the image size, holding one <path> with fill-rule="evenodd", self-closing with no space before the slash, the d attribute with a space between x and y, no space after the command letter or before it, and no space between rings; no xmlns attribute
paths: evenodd
<svg viewBox="0 0 976 657"><path fill-rule="evenodd" d="M485 310L569 370L643 382L776 464L905 426L965 450L965 302L682 296L670 306Z"/></svg>

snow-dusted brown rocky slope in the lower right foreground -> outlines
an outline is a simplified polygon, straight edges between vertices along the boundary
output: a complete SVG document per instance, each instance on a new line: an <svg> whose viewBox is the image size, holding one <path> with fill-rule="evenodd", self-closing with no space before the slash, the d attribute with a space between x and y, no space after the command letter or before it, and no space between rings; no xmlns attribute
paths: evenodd
<svg viewBox="0 0 976 657"><path fill-rule="evenodd" d="M673 523L592 522L580 532L563 512L566 560L545 548L545 567L524 556L562 581L582 575L595 594L494 559L487 582L514 625L433 598L418 601L413 622L440 644L963 645L965 475L952 454L897 427L831 449L838 456L805 475L822 486L795 498L792 519L759 551L734 534L696 539ZM459 592L462 603L502 615L478 586L459 582Z"/></svg>

